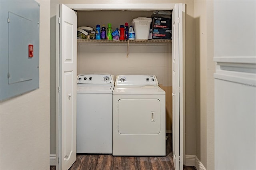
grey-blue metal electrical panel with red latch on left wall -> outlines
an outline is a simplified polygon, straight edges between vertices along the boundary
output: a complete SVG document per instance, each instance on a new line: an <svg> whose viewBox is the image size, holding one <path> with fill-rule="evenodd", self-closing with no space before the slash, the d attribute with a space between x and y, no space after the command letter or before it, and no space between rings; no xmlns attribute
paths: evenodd
<svg viewBox="0 0 256 170"><path fill-rule="evenodd" d="M0 0L0 100L39 88L39 15L34 0Z"/></svg>

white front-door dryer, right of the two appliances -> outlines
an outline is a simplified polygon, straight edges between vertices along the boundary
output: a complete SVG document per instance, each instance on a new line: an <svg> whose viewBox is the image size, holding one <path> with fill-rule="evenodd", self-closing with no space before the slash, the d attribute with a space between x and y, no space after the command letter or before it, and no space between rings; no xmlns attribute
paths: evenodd
<svg viewBox="0 0 256 170"><path fill-rule="evenodd" d="M165 91L154 75L118 75L113 90L113 155L165 156Z"/></svg>

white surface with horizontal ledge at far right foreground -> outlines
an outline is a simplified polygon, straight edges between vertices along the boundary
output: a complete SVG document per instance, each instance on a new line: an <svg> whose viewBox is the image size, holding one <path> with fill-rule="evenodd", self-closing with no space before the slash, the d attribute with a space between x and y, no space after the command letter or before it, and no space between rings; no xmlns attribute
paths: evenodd
<svg viewBox="0 0 256 170"><path fill-rule="evenodd" d="M214 1L215 169L256 169L256 1Z"/></svg>

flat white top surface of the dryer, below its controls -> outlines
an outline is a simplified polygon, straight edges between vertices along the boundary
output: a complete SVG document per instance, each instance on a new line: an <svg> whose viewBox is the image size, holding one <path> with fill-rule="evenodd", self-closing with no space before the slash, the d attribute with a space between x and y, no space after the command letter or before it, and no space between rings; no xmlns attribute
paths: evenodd
<svg viewBox="0 0 256 170"><path fill-rule="evenodd" d="M115 86L113 95L165 95L158 86Z"/></svg>

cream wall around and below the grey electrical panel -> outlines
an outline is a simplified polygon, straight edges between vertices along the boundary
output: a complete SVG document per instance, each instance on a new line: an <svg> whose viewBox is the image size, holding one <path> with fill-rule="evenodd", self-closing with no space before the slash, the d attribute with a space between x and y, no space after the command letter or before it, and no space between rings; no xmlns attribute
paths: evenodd
<svg viewBox="0 0 256 170"><path fill-rule="evenodd" d="M50 0L40 3L40 88L0 103L0 169L49 169Z"/></svg>

